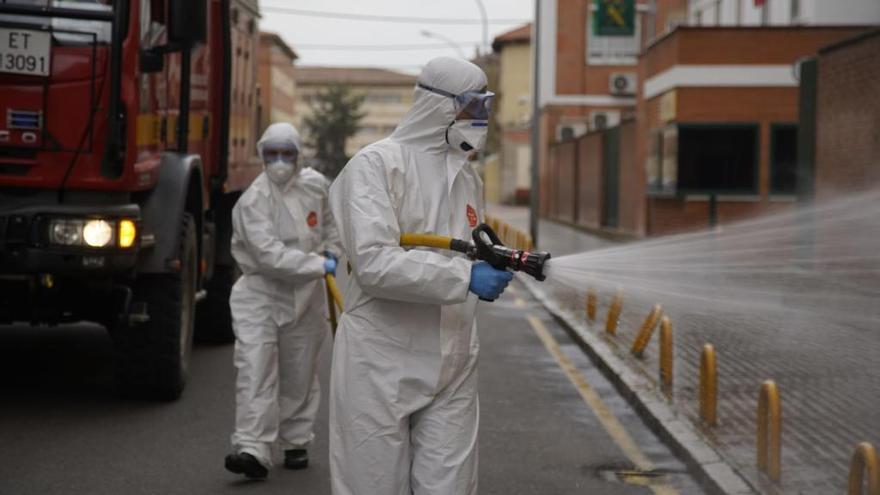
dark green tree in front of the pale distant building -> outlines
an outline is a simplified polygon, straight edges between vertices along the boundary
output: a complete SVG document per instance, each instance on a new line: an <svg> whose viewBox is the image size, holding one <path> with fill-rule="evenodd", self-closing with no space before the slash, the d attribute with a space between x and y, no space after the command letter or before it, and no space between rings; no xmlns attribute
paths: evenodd
<svg viewBox="0 0 880 495"><path fill-rule="evenodd" d="M351 94L351 88L336 84L319 91L311 103L311 115L303 120L308 136L306 145L315 152L316 168L336 177L348 162L345 144L360 129L363 96Z"/></svg>

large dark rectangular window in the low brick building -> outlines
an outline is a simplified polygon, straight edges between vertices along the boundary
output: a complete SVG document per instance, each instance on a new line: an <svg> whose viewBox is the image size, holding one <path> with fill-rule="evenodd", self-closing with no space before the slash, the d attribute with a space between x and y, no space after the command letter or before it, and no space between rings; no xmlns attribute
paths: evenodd
<svg viewBox="0 0 880 495"><path fill-rule="evenodd" d="M679 125L677 151L679 192L757 193L757 125Z"/></svg>

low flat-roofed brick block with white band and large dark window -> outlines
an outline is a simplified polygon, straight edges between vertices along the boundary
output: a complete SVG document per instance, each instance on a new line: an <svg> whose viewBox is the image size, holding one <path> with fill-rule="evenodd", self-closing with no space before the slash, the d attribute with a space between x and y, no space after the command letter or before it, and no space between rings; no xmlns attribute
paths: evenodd
<svg viewBox="0 0 880 495"><path fill-rule="evenodd" d="M637 162L645 233L665 234L790 207L796 199L795 62L850 27L679 27L640 66ZM632 185L622 196L637 198Z"/></svg>

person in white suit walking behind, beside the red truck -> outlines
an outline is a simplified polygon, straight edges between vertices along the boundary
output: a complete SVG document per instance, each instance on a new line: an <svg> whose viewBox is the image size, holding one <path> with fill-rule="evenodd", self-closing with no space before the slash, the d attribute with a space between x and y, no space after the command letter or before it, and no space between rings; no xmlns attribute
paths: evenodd
<svg viewBox="0 0 880 495"><path fill-rule="evenodd" d="M238 374L226 469L260 479L276 446L286 468L308 466L320 404L316 361L328 330L321 279L335 273L340 247L329 181L300 167L296 129L270 125L257 149L264 171L232 210L242 276L229 298Z"/></svg>

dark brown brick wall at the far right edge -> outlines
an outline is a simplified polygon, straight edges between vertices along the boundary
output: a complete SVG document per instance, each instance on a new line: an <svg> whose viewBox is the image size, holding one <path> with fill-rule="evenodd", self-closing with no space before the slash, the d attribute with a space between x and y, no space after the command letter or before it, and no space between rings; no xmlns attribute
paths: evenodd
<svg viewBox="0 0 880 495"><path fill-rule="evenodd" d="M880 32L822 53L816 195L880 185Z"/></svg>

